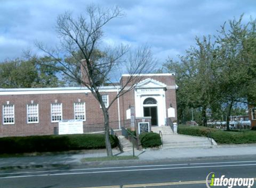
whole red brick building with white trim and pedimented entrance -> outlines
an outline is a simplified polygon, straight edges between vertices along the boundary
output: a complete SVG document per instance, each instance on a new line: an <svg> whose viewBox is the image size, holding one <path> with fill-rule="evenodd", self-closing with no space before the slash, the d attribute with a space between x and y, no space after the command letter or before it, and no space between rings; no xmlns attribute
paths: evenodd
<svg viewBox="0 0 256 188"><path fill-rule="evenodd" d="M126 111L130 106L134 106L135 117L150 116L152 126L165 125L170 106L176 113L174 74L142 76L134 90L110 106L109 121L119 122L113 128L120 129L120 122L129 118ZM120 85L128 77L122 75ZM119 88L100 87L106 106L118 94ZM85 87L0 89L0 104L0 137L51 135L63 119L83 119L84 127L104 122L100 104Z"/></svg>

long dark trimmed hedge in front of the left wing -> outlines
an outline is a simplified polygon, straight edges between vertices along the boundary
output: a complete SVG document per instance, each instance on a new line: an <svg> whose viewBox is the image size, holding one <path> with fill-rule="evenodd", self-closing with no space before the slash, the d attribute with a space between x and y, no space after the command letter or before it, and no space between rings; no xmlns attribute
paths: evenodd
<svg viewBox="0 0 256 188"><path fill-rule="evenodd" d="M110 135L112 147L118 138ZM104 135L45 135L0 138L0 154L105 148Z"/></svg>

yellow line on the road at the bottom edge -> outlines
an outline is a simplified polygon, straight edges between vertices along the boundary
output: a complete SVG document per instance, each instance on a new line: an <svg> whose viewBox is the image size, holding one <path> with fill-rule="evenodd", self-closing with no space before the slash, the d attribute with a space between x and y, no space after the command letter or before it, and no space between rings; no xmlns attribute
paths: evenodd
<svg viewBox="0 0 256 188"><path fill-rule="evenodd" d="M210 182L210 181L209 181ZM202 181L179 181L168 183L154 183L154 184L130 184L123 185L123 188L136 188L136 187L152 187L152 186L164 186L164 185L185 185L185 184L205 184L206 180ZM84 188L120 188L120 185L102 186L102 187L84 187Z"/></svg>

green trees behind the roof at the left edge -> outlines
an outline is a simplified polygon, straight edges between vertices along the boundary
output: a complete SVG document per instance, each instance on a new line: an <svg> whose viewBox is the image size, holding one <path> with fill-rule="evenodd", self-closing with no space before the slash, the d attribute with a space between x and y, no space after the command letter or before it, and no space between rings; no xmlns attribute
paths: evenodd
<svg viewBox="0 0 256 188"><path fill-rule="evenodd" d="M35 88L58 87L64 83L58 78L57 69L42 65L51 62L50 57L31 57L25 59L6 60L0 63L1 88Z"/></svg>

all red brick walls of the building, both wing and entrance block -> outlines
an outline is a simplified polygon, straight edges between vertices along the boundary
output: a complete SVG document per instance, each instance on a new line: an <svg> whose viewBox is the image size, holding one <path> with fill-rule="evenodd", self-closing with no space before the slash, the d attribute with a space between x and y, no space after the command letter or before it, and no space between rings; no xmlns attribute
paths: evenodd
<svg viewBox="0 0 256 188"><path fill-rule="evenodd" d="M143 77L142 80L146 78L153 78L159 82L166 84L167 86L175 86L174 76L147 76ZM126 79L126 77L123 77L122 81L123 79ZM117 95L117 92L107 92L102 94L109 94L110 103L113 100L113 98ZM165 94L166 110L169 108L170 103L172 103L172 107L176 109L176 90L167 89ZM97 100L93 97L91 93L19 95L13 93L11 95L0 95L0 137L54 134L54 127L58 127L58 123L51 123L50 104L55 103L55 100L57 100L58 103L62 103L63 119L74 119L74 102L78 102L78 99L80 99L81 102L85 102L85 126L104 122L100 104L97 102ZM39 123L27 123L27 104L30 104L31 100L34 101L34 104L38 103L39 105ZM7 101L9 101L10 104L15 105L14 125L3 125L2 106L6 104ZM126 110L129 109L129 106L135 106L134 90L131 90L130 92L120 97L119 104L120 120L126 120ZM118 121L118 100L116 100L109 109L109 121ZM115 123L113 125L115 126L113 128L117 128L118 123Z"/></svg>

